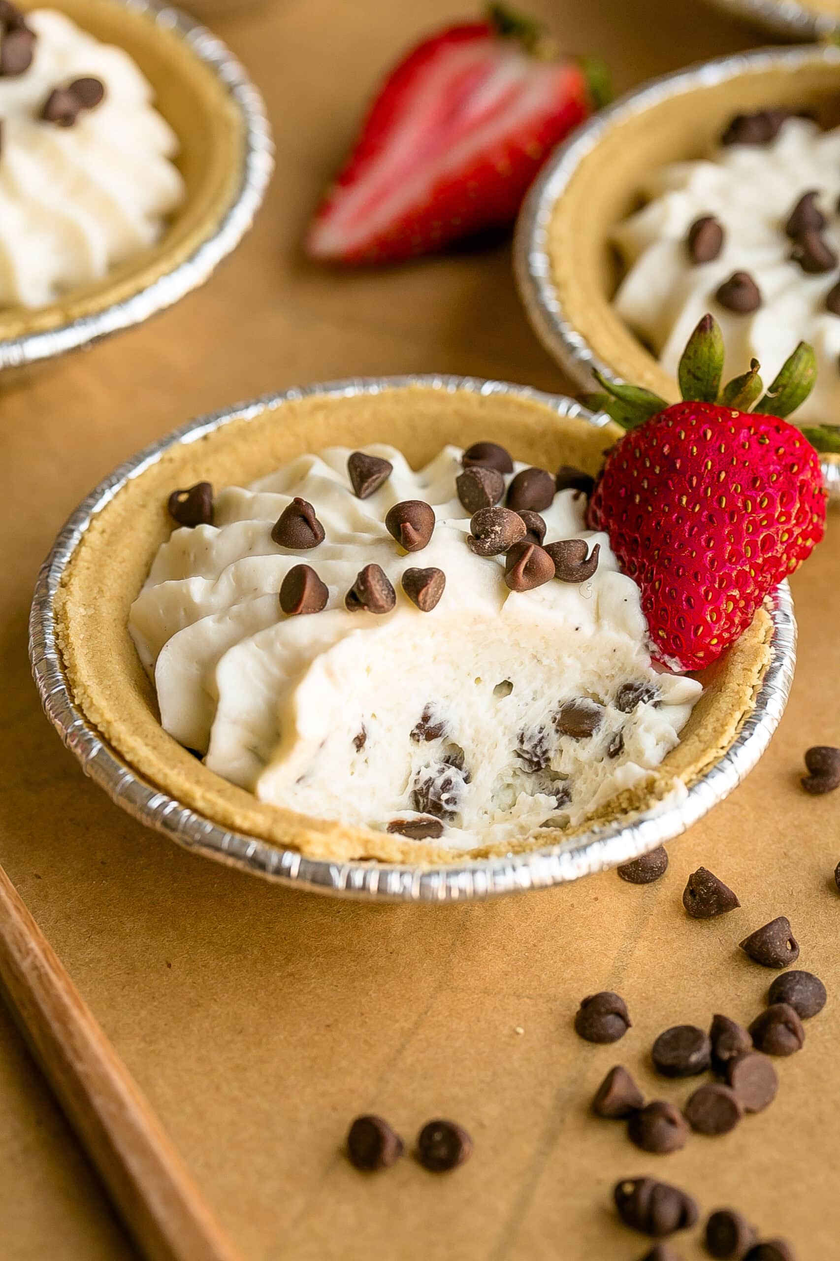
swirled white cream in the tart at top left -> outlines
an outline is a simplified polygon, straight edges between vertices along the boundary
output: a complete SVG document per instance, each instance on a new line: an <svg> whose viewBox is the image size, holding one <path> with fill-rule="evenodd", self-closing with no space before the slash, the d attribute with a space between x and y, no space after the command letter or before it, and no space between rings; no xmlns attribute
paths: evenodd
<svg viewBox="0 0 840 1261"><path fill-rule="evenodd" d="M34 308L153 245L184 189L127 53L52 9L0 23L0 305Z"/></svg>

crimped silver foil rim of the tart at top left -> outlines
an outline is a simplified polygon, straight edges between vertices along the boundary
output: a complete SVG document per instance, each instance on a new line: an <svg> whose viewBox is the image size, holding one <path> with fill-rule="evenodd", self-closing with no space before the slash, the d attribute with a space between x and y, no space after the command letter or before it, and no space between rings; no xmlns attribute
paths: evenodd
<svg viewBox="0 0 840 1261"><path fill-rule="evenodd" d="M274 145L262 97L222 40L201 23L161 0L112 3L145 13L155 25L175 32L227 88L245 122L240 178L227 211L188 259L131 298L111 303L101 311L68 320L58 328L1 338L0 372L66 354L120 329L131 328L198 289L251 227L274 169Z"/></svg>

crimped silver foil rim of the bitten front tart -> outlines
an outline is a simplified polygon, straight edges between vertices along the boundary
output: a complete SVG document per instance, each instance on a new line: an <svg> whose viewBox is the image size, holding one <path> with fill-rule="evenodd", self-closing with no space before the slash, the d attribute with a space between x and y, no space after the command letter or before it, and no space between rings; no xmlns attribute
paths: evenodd
<svg viewBox="0 0 840 1261"><path fill-rule="evenodd" d="M787 583L774 595L771 662L755 706L732 748L684 798L660 805L658 808L623 822L593 827L565 846L555 845L508 857L434 868L373 861L337 863L308 859L295 850L283 850L254 836L227 831L146 783L76 706L55 641L55 593L92 518L126 482L156 463L172 446L193 443L231 421L255 419L284 402L310 395L348 397L380 393L404 386L511 395L545 404L560 416L579 416L599 426L607 422L605 416L593 416L580 404L564 396L546 395L527 386L501 381L453 376L368 377L313 385L266 395L189 421L105 478L72 513L42 566L29 618L29 656L47 716L67 748L76 754L85 773L135 818L187 849L298 889L366 900L460 902L563 884L656 849L684 832L732 792L755 765L778 725L796 662L796 620Z"/></svg>

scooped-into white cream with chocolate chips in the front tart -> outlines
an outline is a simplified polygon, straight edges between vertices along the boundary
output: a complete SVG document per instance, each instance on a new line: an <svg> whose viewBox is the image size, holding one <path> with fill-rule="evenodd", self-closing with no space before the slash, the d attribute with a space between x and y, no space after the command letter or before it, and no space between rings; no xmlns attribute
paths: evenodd
<svg viewBox="0 0 840 1261"><path fill-rule="evenodd" d="M472 513L481 478L510 503L525 465L479 474L465 508L463 455L415 472L370 446L351 482L358 453L329 448L175 528L130 614L165 730L262 802L453 849L574 825L642 783L700 685L652 665L638 589L579 489L520 478L539 516L491 516L532 538L542 522L545 546L477 555L494 538ZM180 501L180 520L209 518L206 484ZM555 541L588 554L580 570L561 557L566 580L542 571Z"/></svg>

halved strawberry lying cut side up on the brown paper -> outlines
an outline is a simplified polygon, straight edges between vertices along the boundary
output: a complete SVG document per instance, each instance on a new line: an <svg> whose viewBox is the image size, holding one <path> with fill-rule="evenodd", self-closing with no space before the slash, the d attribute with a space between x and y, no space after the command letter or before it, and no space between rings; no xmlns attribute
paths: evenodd
<svg viewBox="0 0 840 1261"><path fill-rule="evenodd" d="M313 259L397 262L507 227L550 150L608 96L502 5L446 26L391 71L315 214Z"/></svg>

